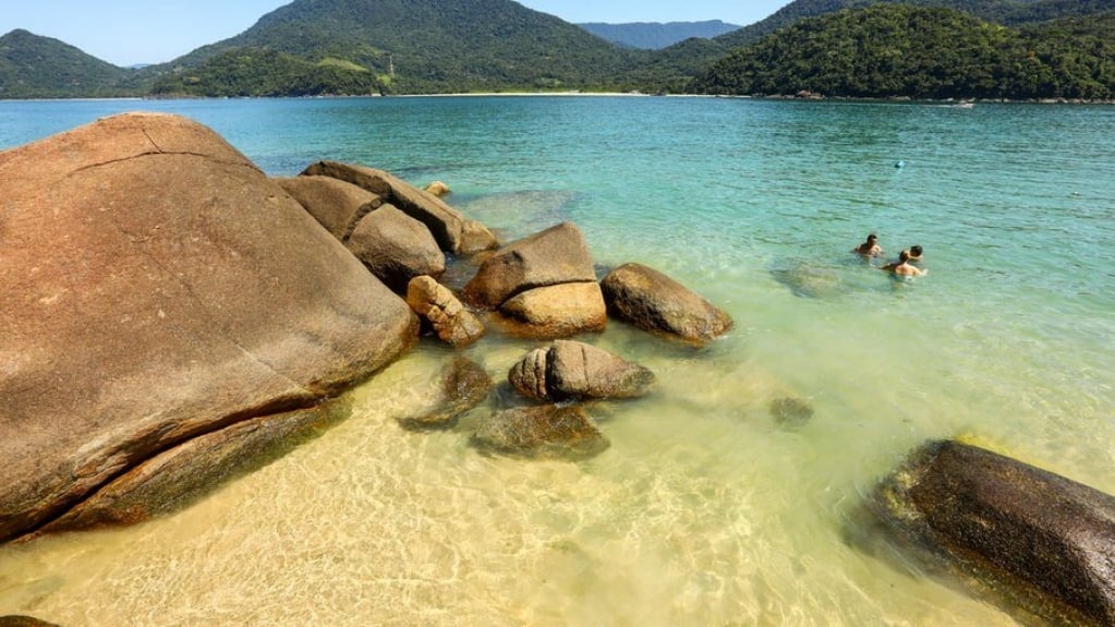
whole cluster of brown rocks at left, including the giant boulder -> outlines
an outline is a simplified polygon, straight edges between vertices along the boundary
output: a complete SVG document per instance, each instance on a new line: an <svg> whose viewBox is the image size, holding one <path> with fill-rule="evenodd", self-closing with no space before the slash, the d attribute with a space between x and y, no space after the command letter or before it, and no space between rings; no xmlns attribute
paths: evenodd
<svg viewBox="0 0 1115 627"><path fill-rule="evenodd" d="M599 453L607 438L578 403L640 396L655 380L560 339L602 332L610 308L641 326L605 301L569 222L488 252L491 230L432 193L440 186L329 161L270 180L169 115L109 117L0 153L0 541L173 509L342 419L347 406L328 399L423 328L453 349L486 320L558 339L512 368L520 401L477 428L485 451ZM449 261L475 267L459 298L438 282ZM691 340L730 326L694 322L718 310L667 284L680 305L647 305L650 316L699 311L644 328ZM400 422L450 427L492 385L455 359L440 406Z"/></svg>

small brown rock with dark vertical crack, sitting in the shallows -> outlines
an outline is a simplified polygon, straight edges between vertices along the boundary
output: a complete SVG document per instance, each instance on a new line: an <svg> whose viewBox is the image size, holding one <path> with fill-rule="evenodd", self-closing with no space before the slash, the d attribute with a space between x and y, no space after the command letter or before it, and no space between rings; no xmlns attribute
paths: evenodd
<svg viewBox="0 0 1115 627"><path fill-rule="evenodd" d="M580 341L558 340L512 366L511 385L540 401L634 398L655 383L649 369Z"/></svg>

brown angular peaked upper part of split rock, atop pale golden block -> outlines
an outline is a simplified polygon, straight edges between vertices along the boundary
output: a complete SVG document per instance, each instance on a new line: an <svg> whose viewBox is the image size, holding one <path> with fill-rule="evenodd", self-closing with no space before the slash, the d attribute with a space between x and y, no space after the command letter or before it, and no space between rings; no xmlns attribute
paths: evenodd
<svg viewBox="0 0 1115 627"><path fill-rule="evenodd" d="M495 309L526 290L595 280L584 235L572 222L562 222L493 253L465 286L464 298Z"/></svg>

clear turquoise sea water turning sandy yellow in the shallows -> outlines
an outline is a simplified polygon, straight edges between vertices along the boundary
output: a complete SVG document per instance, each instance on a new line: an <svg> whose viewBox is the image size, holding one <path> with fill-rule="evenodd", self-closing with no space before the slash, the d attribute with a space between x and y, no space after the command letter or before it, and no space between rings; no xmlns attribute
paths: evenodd
<svg viewBox="0 0 1115 627"><path fill-rule="evenodd" d="M420 346L351 419L172 518L0 549L0 615L65 625L1011 625L856 549L928 438L1115 493L1115 108L653 97L0 103L0 147L182 113L264 171L330 158L453 187L505 240L562 220L737 321L700 350L611 325L656 393L578 464L413 434ZM898 162L904 167L895 167ZM849 250L925 248L893 281ZM532 345L468 350L495 377ZM787 395L815 413L769 412Z"/></svg>

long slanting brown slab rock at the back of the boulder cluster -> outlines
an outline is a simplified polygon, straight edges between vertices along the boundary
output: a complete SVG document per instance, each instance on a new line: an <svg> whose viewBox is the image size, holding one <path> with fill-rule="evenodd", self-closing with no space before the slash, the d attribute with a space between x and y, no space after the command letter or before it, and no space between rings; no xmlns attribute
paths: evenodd
<svg viewBox="0 0 1115 627"><path fill-rule="evenodd" d="M363 187L425 224L442 250L460 252L464 216L429 192L415 187L382 170L334 161L314 163L307 167L302 175L331 176Z"/></svg>

